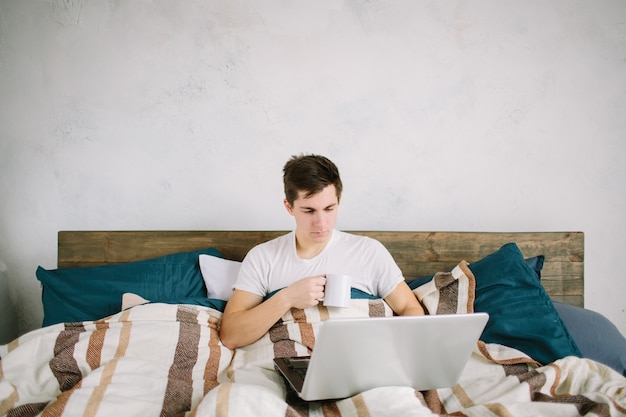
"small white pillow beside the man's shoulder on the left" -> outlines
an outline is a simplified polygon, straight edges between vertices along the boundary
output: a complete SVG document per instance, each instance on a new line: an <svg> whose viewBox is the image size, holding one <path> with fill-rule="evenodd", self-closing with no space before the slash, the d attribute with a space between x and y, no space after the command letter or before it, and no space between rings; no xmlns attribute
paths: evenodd
<svg viewBox="0 0 626 417"><path fill-rule="evenodd" d="M207 297L228 300L233 294L241 262L211 255L200 255L199 261Z"/></svg>

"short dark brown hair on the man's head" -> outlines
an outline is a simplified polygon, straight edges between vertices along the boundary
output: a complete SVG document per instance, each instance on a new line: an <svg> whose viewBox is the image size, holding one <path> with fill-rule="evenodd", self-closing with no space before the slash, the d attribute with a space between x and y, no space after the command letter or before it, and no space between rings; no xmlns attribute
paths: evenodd
<svg viewBox="0 0 626 417"><path fill-rule="evenodd" d="M340 200L343 190L337 166L325 156L313 154L292 156L283 168L283 184L285 198L292 206L300 191L304 191L304 197L308 198L334 185L337 200Z"/></svg>

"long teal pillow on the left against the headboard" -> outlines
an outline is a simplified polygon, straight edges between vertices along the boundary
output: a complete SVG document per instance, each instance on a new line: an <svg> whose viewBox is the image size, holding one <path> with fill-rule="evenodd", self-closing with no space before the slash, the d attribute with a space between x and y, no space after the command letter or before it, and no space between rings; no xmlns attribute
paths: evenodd
<svg viewBox="0 0 626 417"><path fill-rule="evenodd" d="M41 282L43 326L99 320L118 313L122 294L150 300L206 297L198 257L220 256L215 248L165 255L144 261L88 268L37 268Z"/></svg>

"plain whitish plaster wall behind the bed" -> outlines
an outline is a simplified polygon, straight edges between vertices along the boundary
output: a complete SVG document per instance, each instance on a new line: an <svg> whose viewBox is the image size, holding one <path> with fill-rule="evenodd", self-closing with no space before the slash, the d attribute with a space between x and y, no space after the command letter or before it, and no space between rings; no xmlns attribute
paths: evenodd
<svg viewBox="0 0 626 417"><path fill-rule="evenodd" d="M20 331L67 229L288 229L281 168L340 167L343 229L586 234L626 334L626 2L0 0L0 258Z"/></svg>

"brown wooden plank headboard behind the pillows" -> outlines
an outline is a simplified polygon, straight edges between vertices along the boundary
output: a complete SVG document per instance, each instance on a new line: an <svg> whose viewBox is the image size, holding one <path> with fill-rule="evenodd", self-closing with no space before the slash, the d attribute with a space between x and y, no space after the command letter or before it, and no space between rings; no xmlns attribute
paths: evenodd
<svg viewBox="0 0 626 417"><path fill-rule="evenodd" d="M218 248L242 260L254 245L285 231L61 231L58 267L85 267L149 259L170 253ZM582 232L392 232L352 231L382 242L411 279L476 261L516 242L525 257L544 255L541 282L555 301L584 306Z"/></svg>

